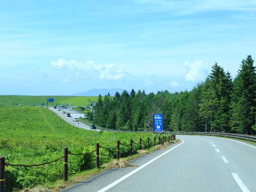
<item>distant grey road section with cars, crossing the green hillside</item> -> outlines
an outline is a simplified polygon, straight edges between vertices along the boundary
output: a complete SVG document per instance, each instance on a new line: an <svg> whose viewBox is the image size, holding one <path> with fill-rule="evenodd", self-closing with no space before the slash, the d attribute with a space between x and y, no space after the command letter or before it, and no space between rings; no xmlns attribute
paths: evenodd
<svg viewBox="0 0 256 192"><path fill-rule="evenodd" d="M76 110L69 110L69 109L65 109L65 111L67 113L70 113L71 117L67 117L67 114L62 114L62 111L58 111L57 109L54 109L53 107L49 107L50 110L52 110L53 112L55 112L58 116L60 116L62 119L64 119L66 122L68 122L69 124L78 127L78 128L83 128L86 130L92 130L90 129L90 126L82 123L82 122L75 122L73 121L74 118L78 118L79 116L82 116L82 113L79 113ZM95 131L95 130L94 130ZM99 129L96 129L96 131L100 131Z"/></svg>

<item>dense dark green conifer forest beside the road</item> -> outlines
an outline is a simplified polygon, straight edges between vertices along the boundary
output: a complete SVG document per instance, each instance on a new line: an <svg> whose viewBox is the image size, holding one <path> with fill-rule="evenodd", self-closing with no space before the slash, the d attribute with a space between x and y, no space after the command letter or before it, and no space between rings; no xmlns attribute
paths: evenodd
<svg viewBox="0 0 256 192"><path fill-rule="evenodd" d="M152 129L154 113L164 114L164 130L256 134L256 70L252 56L242 60L232 80L215 63L204 82L191 91L157 94L133 89L98 102L90 115L98 126L116 130Z"/></svg>

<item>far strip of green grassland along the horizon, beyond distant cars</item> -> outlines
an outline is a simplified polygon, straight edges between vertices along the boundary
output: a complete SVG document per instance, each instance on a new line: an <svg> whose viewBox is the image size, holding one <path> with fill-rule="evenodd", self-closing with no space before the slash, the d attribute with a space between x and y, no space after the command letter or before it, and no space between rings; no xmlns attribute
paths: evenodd
<svg viewBox="0 0 256 192"><path fill-rule="evenodd" d="M47 98L54 98L54 102L50 103L51 106L65 105L71 103L72 106L79 105L84 106L89 102L97 101L98 96L0 96L0 106L14 106L16 104L23 104L23 106L40 106L42 102L46 105ZM49 103L48 103L49 104Z"/></svg>

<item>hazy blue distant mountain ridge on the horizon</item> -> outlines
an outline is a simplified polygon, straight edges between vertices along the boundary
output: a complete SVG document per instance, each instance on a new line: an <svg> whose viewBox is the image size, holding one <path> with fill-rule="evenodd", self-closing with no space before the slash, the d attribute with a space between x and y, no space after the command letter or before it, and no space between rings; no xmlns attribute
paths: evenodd
<svg viewBox="0 0 256 192"><path fill-rule="evenodd" d="M124 91L124 89L118 89L118 88L113 88L113 89L90 89L90 90L85 91L85 92L75 93L75 94L73 94L73 96L99 96L99 94L104 96L108 93L111 96L114 96L116 94L116 92L119 92L120 94L122 94L123 91Z"/></svg>

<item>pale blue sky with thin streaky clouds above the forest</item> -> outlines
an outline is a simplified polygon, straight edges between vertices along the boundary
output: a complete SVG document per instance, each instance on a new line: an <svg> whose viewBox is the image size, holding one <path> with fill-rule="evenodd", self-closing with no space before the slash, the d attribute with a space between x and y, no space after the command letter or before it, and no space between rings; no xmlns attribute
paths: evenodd
<svg viewBox="0 0 256 192"><path fill-rule="evenodd" d="M0 94L191 90L255 59L255 31L255 0L4 1Z"/></svg>

